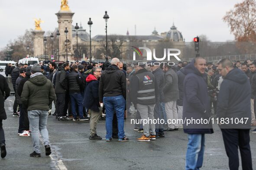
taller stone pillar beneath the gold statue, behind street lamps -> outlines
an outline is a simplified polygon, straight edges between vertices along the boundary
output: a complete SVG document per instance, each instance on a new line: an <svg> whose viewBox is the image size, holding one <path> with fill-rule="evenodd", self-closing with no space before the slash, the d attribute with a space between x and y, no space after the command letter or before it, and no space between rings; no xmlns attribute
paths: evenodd
<svg viewBox="0 0 256 170"><path fill-rule="evenodd" d="M71 60L74 56L73 41L72 41L72 17L75 13L71 10L60 10L55 15L58 17L58 30L59 36L59 53L60 60L66 61L66 34L65 29L68 29L68 60Z"/></svg>

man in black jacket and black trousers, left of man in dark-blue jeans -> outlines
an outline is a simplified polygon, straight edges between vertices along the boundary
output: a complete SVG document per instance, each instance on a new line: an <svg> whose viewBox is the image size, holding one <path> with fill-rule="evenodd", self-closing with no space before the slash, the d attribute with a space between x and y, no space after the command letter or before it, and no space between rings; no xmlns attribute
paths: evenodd
<svg viewBox="0 0 256 170"><path fill-rule="evenodd" d="M66 90L68 89L68 82L66 80L66 71L69 69L69 63L66 62L58 68L55 81L55 94L57 115L59 121L68 121L67 113L65 112L65 97Z"/></svg>

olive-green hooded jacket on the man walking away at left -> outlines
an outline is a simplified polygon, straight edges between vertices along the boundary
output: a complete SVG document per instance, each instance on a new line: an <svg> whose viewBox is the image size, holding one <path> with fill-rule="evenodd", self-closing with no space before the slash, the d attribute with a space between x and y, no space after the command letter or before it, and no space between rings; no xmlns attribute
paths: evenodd
<svg viewBox="0 0 256 170"><path fill-rule="evenodd" d="M41 72L36 72L25 82L21 101L30 110L49 110L49 104L56 100L52 82Z"/></svg>

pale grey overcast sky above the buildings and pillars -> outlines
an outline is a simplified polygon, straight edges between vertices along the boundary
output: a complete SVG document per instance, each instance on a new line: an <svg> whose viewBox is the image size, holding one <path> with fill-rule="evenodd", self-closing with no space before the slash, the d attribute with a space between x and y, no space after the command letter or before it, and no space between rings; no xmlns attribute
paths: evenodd
<svg viewBox="0 0 256 170"><path fill-rule="evenodd" d="M92 37L105 35L104 12L107 10L108 34L150 35L156 27L159 32L169 31L174 21L186 41L196 35L205 34L211 41L233 40L230 28L222 18L242 0L68 0L76 22L89 28L89 17L93 21ZM41 18L44 31L58 27L57 16L61 0L0 0L0 49L26 29L34 29L33 18Z"/></svg>

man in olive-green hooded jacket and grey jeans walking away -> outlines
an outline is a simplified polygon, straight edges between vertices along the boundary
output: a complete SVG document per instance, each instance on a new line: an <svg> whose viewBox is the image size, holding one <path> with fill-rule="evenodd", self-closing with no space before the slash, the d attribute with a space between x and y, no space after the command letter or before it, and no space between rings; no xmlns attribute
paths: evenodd
<svg viewBox="0 0 256 170"><path fill-rule="evenodd" d="M39 131L45 145L45 155L50 155L51 148L46 129L49 103L56 100L52 82L41 73L41 66L34 64L31 68L31 76L23 86L21 101L28 109L29 123L32 130L32 142L34 151L30 157L41 157Z"/></svg>

